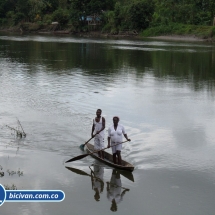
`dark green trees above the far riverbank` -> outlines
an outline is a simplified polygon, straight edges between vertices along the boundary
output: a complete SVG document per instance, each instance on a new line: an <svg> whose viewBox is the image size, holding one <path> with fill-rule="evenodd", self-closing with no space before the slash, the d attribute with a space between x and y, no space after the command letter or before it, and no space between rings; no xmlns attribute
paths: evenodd
<svg viewBox="0 0 215 215"><path fill-rule="evenodd" d="M75 30L87 28L87 16L97 14L101 30L117 33L142 31L148 27L181 23L212 25L215 0L1 0L0 24L23 22L61 25Z"/></svg>

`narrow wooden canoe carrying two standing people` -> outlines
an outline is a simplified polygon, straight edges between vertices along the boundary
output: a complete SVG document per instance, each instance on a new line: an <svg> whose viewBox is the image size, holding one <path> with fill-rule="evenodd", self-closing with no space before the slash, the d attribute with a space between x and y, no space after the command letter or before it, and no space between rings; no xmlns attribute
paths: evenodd
<svg viewBox="0 0 215 215"><path fill-rule="evenodd" d="M90 143L87 143L86 144L86 150L91 153L94 150L94 146ZM127 161L123 160L122 159L122 165L117 165L117 164L114 164L113 163L113 155L109 154L108 152L104 151L104 156L105 156L105 159L101 159L99 156L98 156L98 153L93 153L91 154L92 157L96 158L97 160L109 165L109 166L112 166L114 168L117 168L117 169L121 169L121 170L126 170L126 171L129 171L129 172L132 172L134 170L134 166L130 163L128 163Z"/></svg>

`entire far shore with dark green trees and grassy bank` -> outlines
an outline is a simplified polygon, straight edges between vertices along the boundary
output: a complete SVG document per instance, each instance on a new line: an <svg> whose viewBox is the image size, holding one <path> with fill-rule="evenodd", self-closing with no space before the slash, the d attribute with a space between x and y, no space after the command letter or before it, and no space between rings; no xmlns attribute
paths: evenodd
<svg viewBox="0 0 215 215"><path fill-rule="evenodd" d="M0 30L215 41L215 1L2 0Z"/></svg>

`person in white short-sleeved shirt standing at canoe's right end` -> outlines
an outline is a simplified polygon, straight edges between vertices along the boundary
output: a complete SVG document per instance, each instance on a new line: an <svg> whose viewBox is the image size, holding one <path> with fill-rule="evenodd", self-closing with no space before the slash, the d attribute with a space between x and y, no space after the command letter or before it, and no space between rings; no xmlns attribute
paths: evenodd
<svg viewBox="0 0 215 215"><path fill-rule="evenodd" d="M119 144L122 142L122 135L124 135L127 141L131 141L131 140L128 139L124 126L119 125L118 123L119 123L119 117L114 116L113 125L108 129L108 148L110 148L110 146L118 144L117 146L112 147L113 162L115 164L122 165L122 158L121 158L122 144ZM118 162L116 157L118 158Z"/></svg>

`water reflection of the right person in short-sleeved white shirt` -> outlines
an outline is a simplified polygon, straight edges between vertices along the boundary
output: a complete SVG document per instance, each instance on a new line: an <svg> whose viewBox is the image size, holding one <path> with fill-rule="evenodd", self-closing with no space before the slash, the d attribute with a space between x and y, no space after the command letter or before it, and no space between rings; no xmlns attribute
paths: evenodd
<svg viewBox="0 0 215 215"><path fill-rule="evenodd" d="M117 170L113 170L110 182L107 182L107 198L112 202L111 211L117 211L117 204L123 200L123 196L129 189L124 189L121 193L122 182L120 179L120 173Z"/></svg>

